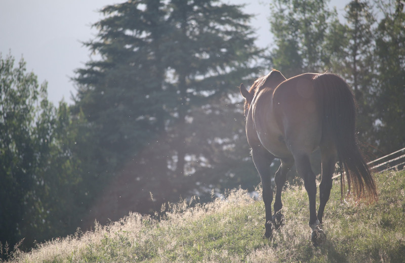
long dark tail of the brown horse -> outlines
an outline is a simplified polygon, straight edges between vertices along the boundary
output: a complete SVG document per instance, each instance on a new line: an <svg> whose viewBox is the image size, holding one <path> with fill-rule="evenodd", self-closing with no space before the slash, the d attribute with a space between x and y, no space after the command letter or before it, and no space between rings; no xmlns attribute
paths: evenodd
<svg viewBox="0 0 405 263"><path fill-rule="evenodd" d="M377 200L376 184L358 147L356 102L350 87L341 77L330 73L315 76L314 86L323 105L323 133L329 133L335 140L340 162L341 198L345 196L344 170L347 196L353 192L357 199L368 196L371 200Z"/></svg>

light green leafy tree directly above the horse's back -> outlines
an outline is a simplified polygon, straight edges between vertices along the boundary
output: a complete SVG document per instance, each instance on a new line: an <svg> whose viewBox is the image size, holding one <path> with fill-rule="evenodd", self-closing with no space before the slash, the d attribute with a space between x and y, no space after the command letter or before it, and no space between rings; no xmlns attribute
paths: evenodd
<svg viewBox="0 0 405 263"><path fill-rule="evenodd" d="M323 47L329 24L336 20L336 10L328 9L325 0L275 0L270 6L270 31L275 48L271 63L286 77L328 69L329 57Z"/></svg>

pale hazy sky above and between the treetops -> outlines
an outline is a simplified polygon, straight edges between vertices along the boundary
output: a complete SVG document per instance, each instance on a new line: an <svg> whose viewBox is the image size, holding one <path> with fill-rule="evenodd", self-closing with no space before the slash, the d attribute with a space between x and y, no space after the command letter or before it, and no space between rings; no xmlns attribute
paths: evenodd
<svg viewBox="0 0 405 263"><path fill-rule="evenodd" d="M55 105L62 99L72 103L76 94L74 70L90 60L90 51L83 41L95 38L91 25L103 18L98 12L106 5L124 0L0 0L0 53L9 53L18 62L26 62L27 71L38 76L39 83L48 81L48 98ZM254 14L251 20L257 32L257 46L272 42L268 3L264 0L224 0L224 3L245 4L244 11ZM349 0L332 0L339 14Z"/></svg>

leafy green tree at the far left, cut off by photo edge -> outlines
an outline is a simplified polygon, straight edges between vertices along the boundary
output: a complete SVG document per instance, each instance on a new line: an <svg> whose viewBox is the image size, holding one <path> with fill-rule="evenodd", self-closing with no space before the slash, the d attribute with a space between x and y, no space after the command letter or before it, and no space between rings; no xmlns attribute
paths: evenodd
<svg viewBox="0 0 405 263"><path fill-rule="evenodd" d="M39 129L33 127L35 117L44 112L44 108L35 107L40 93L36 77L25 72L23 60L16 68L14 63L11 55L0 56L0 233L2 240L12 243L23 238L30 223L32 228L44 215L34 195L35 183L41 180L35 176L36 169L43 157L36 153L39 148L47 151L49 139L46 134L39 136ZM41 90L46 90L45 84Z"/></svg>

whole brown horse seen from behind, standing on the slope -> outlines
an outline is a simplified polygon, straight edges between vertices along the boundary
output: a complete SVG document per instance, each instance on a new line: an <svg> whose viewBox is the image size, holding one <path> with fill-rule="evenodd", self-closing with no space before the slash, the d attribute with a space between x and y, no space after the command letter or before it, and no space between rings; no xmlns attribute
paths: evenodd
<svg viewBox="0 0 405 263"><path fill-rule="evenodd" d="M272 228L284 224L280 211L281 190L294 162L308 193L309 226L314 245L320 244L325 237L319 226L331 193L337 161L342 167L342 198L345 192L343 170L348 183L347 195L352 192L357 198L377 198L373 177L357 146L355 100L341 77L330 73L305 73L286 79L279 71L272 70L267 76L258 78L249 91L243 84L239 89L246 100L246 135L262 181L266 238L272 237ZM316 214L316 182L309 157L317 148L321 152L322 179ZM275 173L272 216L270 164L274 158L279 158L281 165Z"/></svg>

